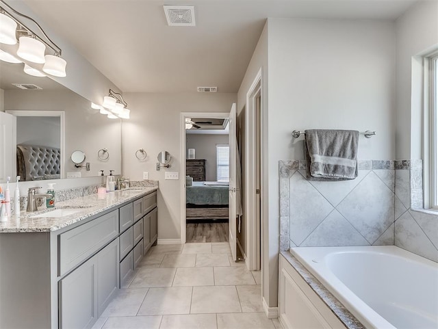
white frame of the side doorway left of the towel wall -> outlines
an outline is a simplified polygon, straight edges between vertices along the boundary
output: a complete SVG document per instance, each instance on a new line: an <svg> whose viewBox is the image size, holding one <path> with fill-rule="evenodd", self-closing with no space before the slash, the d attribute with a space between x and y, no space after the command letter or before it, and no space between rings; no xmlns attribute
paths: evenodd
<svg viewBox="0 0 438 329"><path fill-rule="evenodd" d="M256 139L255 135L257 133L257 127L256 126L256 120L255 120L255 98L257 95L263 96L262 92L262 70L257 72L257 75L255 76L255 79L253 80L253 83L251 84L248 93L246 94L246 120L245 120L245 131L246 131L246 137L245 137L245 149L246 149L246 157L245 157L245 168L246 168L246 179L245 179L245 196L246 196L246 202L245 202L245 217L247 222L246 225L246 266L250 270L257 270L261 269L261 253L263 252L263 216L261 215L262 208L263 208L263 202L260 202L260 224L256 222L256 205L257 205L257 194L255 192L256 186L256 163L255 163L255 157L256 157ZM261 141L263 141L263 129L261 125L262 122L262 111L263 111L263 100L260 104L260 131L261 134ZM260 157L263 159L263 142L260 143ZM260 168L261 173L263 172L263 165L261 164ZM263 182L260 182L261 185L263 185ZM262 186L261 186L262 187ZM261 196L261 194L260 194Z"/></svg>

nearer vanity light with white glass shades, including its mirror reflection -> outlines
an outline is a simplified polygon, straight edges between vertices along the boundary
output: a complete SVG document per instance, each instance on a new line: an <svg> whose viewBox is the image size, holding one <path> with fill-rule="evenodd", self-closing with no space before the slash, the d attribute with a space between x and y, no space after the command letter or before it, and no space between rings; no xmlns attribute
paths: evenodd
<svg viewBox="0 0 438 329"><path fill-rule="evenodd" d="M29 29L18 17L26 18L34 23L43 37ZM23 59L35 64L44 64L42 66L43 72L40 72L40 70L31 68L25 63L24 71L28 75L45 77L44 73L47 73L55 77L66 77L67 62L60 57L62 53L60 47L57 47L33 18L17 12L3 0L0 0L0 43L14 45L17 43L17 36L18 50L16 54L0 49L0 60L18 64L23 63L21 60ZM52 51L53 55L45 55L47 48Z"/></svg>

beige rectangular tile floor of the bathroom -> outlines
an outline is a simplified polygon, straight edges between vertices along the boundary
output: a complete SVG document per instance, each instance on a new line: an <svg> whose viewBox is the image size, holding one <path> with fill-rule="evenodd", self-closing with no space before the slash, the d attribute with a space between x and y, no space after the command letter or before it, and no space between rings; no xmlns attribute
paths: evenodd
<svg viewBox="0 0 438 329"><path fill-rule="evenodd" d="M281 329L261 305L260 272L230 259L229 244L160 245L93 329Z"/></svg>

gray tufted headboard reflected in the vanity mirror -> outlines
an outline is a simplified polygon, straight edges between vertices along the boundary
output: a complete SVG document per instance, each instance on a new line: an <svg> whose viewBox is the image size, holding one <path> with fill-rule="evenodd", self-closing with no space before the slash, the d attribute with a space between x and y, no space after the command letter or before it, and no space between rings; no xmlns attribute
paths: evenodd
<svg viewBox="0 0 438 329"><path fill-rule="evenodd" d="M16 146L16 172L22 181L59 179L61 152L59 148L37 145Z"/></svg>

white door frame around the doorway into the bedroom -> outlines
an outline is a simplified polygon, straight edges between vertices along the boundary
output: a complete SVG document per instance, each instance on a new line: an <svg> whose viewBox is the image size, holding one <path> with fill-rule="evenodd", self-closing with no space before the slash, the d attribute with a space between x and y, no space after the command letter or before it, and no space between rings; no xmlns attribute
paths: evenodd
<svg viewBox="0 0 438 329"><path fill-rule="evenodd" d="M181 112L180 117L180 140L181 148L179 158L181 159L181 179L180 179L180 189L181 189L181 205L180 205L180 216L181 216L181 244L185 244L185 148L186 148L186 137L185 137L185 118L229 118L229 112ZM231 161L231 159L230 159Z"/></svg>

